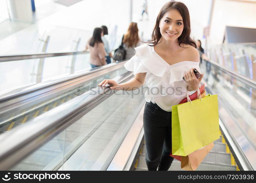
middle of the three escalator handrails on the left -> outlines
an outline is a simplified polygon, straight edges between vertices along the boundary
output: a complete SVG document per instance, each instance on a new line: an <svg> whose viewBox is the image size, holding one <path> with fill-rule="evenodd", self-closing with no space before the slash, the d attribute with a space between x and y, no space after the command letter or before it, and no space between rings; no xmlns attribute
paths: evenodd
<svg viewBox="0 0 256 183"><path fill-rule="evenodd" d="M62 79L56 79L56 80L50 81L50 82L49 81L41 82L38 85L37 84L32 85L32 86L30 85L30 86L28 86L29 89L22 89L21 91L17 91L15 93L8 92L7 95L0 96L0 103L5 102L7 100L12 100L14 98L18 98L18 97L21 97L21 96L24 96L24 95L27 95L27 94L31 94L35 91L43 90L45 88L48 88L48 87L51 87L51 86L54 86L54 85L59 85L61 83L64 83L64 82L67 82L67 81L70 81L70 80L73 80L73 79L76 79L76 78L79 78L79 77L82 77L82 76L90 75L94 72L99 72L99 71L105 70L106 73L107 73L108 69L110 67L114 67L114 66L118 67L119 65L123 65L123 64L125 64L125 61L120 61L118 63L111 63L111 64L107 64L107 65L104 65L104 66L88 69L88 70L86 70L88 72L85 72L85 73L83 72L82 74L81 74L81 72L77 73L77 74L72 74L70 76L65 77L64 79L63 78Z"/></svg>

